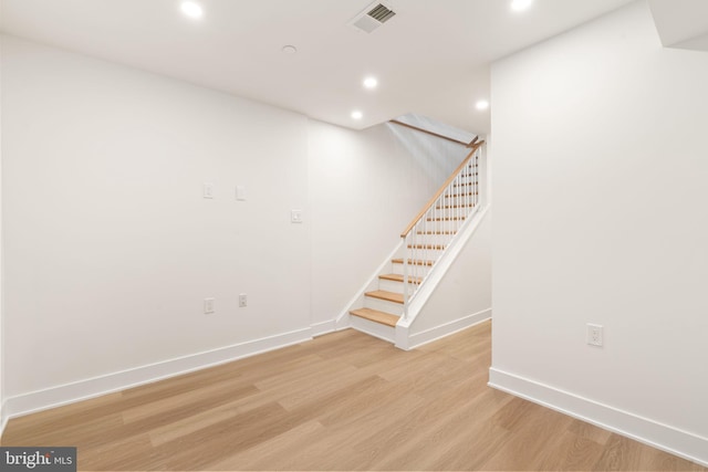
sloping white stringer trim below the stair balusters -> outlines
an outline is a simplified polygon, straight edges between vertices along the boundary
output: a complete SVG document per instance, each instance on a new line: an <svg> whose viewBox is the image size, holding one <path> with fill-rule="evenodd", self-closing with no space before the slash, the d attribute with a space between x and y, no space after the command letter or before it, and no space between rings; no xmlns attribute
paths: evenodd
<svg viewBox="0 0 708 472"><path fill-rule="evenodd" d="M485 221L488 211L489 207L485 207L478 210L472 218L468 219L462 224L460 231L452 239L450 245L445 250L445 252L440 256L440 260L433 266L433 270L420 285L420 289L418 289L415 298L413 298L413 301L408 305L408 316L405 318L402 317L398 322L398 325L413 325L420 311L428 303L430 296L445 277L447 271L452 266L462 249L465 249L465 245L469 242L475 232L477 232L477 229Z"/></svg>

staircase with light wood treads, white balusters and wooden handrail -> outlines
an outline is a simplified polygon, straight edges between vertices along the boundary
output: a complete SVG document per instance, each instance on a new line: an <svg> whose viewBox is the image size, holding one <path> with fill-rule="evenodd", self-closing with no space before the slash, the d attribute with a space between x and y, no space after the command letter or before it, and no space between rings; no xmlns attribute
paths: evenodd
<svg viewBox="0 0 708 472"><path fill-rule="evenodd" d="M472 140L467 158L400 234L402 243L377 279L348 311L351 326L395 342L397 326L416 313L410 303L436 263L455 244L460 229L479 207L479 158L485 141Z"/></svg>

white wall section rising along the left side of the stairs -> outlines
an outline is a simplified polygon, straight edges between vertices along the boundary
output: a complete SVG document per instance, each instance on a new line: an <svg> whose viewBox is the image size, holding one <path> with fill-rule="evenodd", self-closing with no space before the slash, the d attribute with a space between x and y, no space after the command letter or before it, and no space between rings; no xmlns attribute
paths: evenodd
<svg viewBox="0 0 708 472"><path fill-rule="evenodd" d="M310 122L314 325L332 324L468 153L393 124Z"/></svg>

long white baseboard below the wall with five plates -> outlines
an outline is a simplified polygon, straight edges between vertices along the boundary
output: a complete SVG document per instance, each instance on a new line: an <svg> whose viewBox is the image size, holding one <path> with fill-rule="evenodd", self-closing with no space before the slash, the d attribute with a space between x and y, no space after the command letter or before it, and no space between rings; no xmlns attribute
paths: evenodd
<svg viewBox="0 0 708 472"><path fill-rule="evenodd" d="M311 339L311 328L298 329L86 380L60 385L44 390L32 391L8 398L2 408L2 415L4 418L11 419L218 366Z"/></svg>

